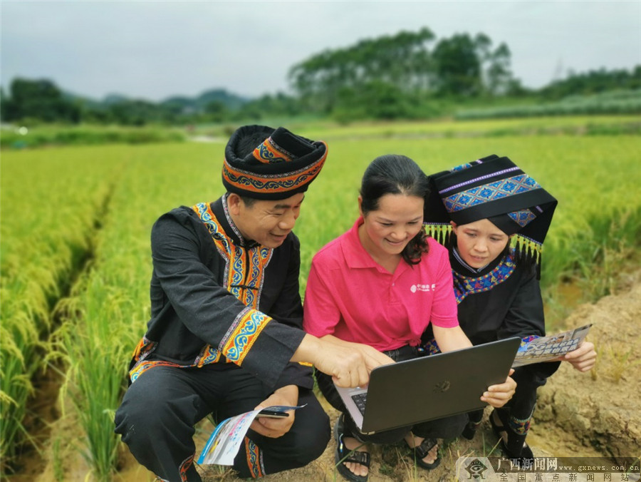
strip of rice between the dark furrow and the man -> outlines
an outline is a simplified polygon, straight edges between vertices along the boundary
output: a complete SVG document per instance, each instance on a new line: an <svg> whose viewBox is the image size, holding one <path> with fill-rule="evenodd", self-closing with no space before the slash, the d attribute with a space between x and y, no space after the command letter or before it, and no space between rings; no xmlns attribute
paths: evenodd
<svg viewBox="0 0 641 482"><path fill-rule="evenodd" d="M85 432L81 451L100 481L110 480L118 462L113 414L127 385L132 350L150 317L151 225L162 212L192 198L199 183L202 194L187 203L211 196L201 173L202 153L211 146L189 147L133 148L95 232L91 269L75 284L72 297L58 304L65 321L56 333L56 349L69 367L64 388ZM182 162L186 152L192 156Z"/></svg>

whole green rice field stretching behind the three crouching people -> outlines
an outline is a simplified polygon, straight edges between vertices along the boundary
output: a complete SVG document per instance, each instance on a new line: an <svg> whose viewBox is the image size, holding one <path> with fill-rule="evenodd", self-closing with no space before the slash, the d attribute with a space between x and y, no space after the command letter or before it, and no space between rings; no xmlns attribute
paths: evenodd
<svg viewBox="0 0 641 482"><path fill-rule="evenodd" d="M560 121L526 122L543 128ZM580 127L632 119L563 122ZM640 138L429 135L452 129L516 132L523 125L493 120L445 127L292 127L329 144L328 161L306 195L295 229L301 239L301 292L316 250L353 224L360 177L377 155L405 154L432 173L496 153L509 156L559 200L543 255L543 286L553 292L562 280L577 279L584 283L586 296L606 294L608 276L641 245ZM214 200L223 193L223 151L224 142L3 152L3 473L21 446L30 443L23 424L28 399L38 396L31 379L57 359L66 367L61 396L73 402L73 416L84 434L80 441L62 443L75 444L85 456L90 480L110 480L120 444L113 434L113 413L126 386L130 354L149 318L150 228L172 207Z"/></svg>

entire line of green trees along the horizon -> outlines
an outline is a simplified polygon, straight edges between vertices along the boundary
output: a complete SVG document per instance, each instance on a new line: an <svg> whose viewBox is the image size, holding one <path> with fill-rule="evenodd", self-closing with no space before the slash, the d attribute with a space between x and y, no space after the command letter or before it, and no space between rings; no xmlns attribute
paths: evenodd
<svg viewBox="0 0 641 482"><path fill-rule="evenodd" d="M437 39L425 27L316 53L293 65L288 81L293 95L279 92L246 100L217 91L198 104L185 98L162 103L127 98L90 103L65 96L51 81L16 78L10 95L0 93L0 115L5 121L124 125L233 122L301 114L346 121L429 118L468 101L528 96L556 100L572 94L638 89L641 66L632 71L570 73L531 90L514 78L506 43L494 46L482 33Z"/></svg>

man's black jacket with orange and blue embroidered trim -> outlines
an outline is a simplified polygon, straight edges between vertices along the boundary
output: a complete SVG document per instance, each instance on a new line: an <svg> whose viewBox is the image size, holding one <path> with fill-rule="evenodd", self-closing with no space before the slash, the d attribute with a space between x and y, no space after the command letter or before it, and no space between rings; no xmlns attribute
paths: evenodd
<svg viewBox="0 0 641 482"><path fill-rule="evenodd" d="M291 363L305 333L300 244L246 241L224 197L178 207L152 228L151 319L136 347L133 382L154 366L234 363L278 389L311 389L311 367Z"/></svg>

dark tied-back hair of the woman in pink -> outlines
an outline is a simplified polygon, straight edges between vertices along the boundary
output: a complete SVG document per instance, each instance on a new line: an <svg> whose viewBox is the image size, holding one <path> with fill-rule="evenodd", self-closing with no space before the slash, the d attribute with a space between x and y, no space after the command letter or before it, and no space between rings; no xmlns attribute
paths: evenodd
<svg viewBox="0 0 641 482"><path fill-rule="evenodd" d="M372 160L365 169L360 183L360 208L363 215L378 209L378 202L386 194L402 194L425 199L429 193L427 176L418 164L405 155L387 154ZM421 230L407 243L401 255L410 265L416 265L427 253L427 235Z"/></svg>

